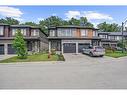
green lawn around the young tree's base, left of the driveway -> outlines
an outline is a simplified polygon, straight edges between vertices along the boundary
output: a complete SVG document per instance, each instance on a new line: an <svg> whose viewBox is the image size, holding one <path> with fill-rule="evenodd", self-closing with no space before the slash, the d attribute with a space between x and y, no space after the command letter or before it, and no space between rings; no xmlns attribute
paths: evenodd
<svg viewBox="0 0 127 95"><path fill-rule="evenodd" d="M33 61L64 61L64 57L59 55L51 55L48 59L48 54L33 54L29 55L27 59L19 59L17 56L11 57L5 60L1 60L0 63L12 63L12 62L33 62Z"/></svg>

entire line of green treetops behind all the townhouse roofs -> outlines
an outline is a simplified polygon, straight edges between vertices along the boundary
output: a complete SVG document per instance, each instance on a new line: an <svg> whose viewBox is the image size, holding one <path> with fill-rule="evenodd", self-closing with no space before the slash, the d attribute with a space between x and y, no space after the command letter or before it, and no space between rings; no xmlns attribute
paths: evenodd
<svg viewBox="0 0 127 95"><path fill-rule="evenodd" d="M69 20L64 20L58 16L50 16L46 19L42 19L39 23L35 22L24 22L21 23L20 21L11 18L1 18L0 23L9 24L9 25L30 25L30 26L38 26L40 27L45 33L47 33L48 27L51 26L64 26L64 25L77 25L77 26L86 26L86 27L94 27L94 25L87 20L86 17L80 17L79 19L71 18ZM97 25L97 28L103 32L118 32L121 30L121 26L116 23L106 23L102 22Z"/></svg>

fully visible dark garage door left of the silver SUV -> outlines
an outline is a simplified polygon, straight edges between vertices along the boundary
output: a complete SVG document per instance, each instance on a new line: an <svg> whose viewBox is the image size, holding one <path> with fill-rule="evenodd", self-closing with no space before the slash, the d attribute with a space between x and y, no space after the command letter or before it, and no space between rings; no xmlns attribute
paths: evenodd
<svg viewBox="0 0 127 95"><path fill-rule="evenodd" d="M76 44L75 43L64 43L63 52L64 53L76 53Z"/></svg>

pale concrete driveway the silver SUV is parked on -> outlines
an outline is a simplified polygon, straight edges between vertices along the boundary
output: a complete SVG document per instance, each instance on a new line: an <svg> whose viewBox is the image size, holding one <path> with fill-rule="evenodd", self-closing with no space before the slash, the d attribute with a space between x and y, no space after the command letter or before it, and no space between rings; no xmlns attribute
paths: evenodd
<svg viewBox="0 0 127 95"><path fill-rule="evenodd" d="M78 63L78 64L93 64L93 63L105 63L109 62L111 63L112 61L115 61L116 58L112 57L90 57L85 54L64 54L64 57L67 62L69 63ZM119 60L119 59L118 59Z"/></svg>

